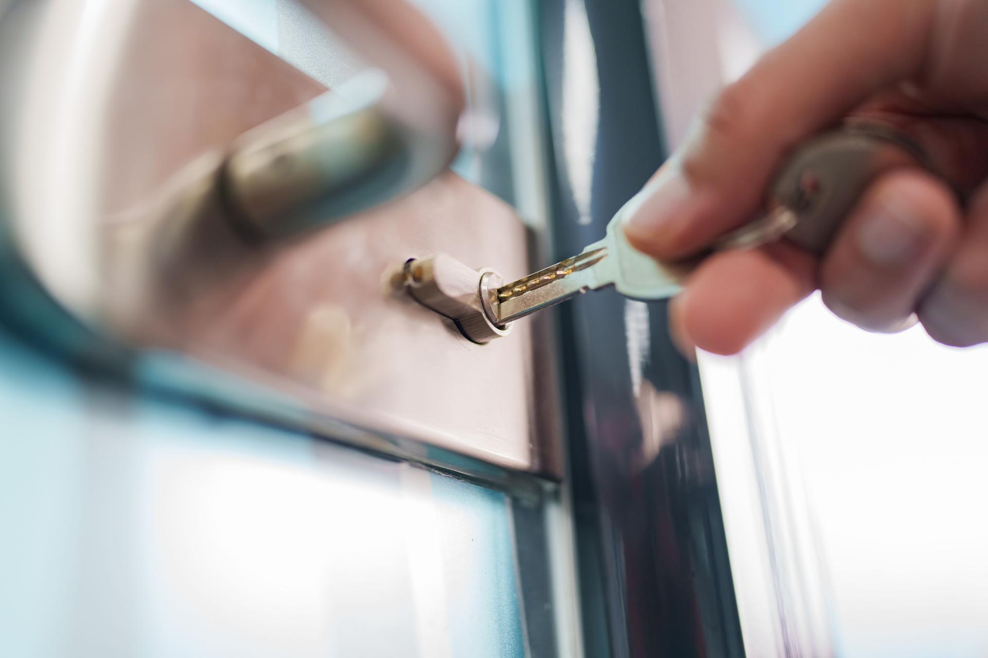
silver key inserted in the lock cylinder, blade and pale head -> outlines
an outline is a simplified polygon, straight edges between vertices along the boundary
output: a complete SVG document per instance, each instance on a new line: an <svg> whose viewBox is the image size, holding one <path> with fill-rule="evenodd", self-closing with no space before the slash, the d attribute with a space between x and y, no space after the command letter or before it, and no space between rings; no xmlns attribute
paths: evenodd
<svg viewBox="0 0 988 658"><path fill-rule="evenodd" d="M498 288L492 303L496 324L514 322L580 293L612 285L625 297L640 300L665 299L679 292L691 267L661 262L632 248L621 230L628 205L608 224L604 240L578 256Z"/></svg>

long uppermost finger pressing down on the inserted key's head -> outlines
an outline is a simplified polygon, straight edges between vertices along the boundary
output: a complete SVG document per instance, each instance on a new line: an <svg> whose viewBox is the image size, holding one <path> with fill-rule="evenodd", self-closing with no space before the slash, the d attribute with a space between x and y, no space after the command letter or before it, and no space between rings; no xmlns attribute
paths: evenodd
<svg viewBox="0 0 988 658"><path fill-rule="evenodd" d="M750 219L785 154L875 91L920 77L938 3L837 0L724 89L638 194L628 241L687 256Z"/></svg>

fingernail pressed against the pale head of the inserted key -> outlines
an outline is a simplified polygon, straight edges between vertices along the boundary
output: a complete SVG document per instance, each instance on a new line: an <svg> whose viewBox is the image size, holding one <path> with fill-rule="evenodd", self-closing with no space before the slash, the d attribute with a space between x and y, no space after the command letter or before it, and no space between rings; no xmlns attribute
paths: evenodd
<svg viewBox="0 0 988 658"><path fill-rule="evenodd" d="M693 201L683 170L669 165L628 202L624 229L648 242L662 242L678 232Z"/></svg>

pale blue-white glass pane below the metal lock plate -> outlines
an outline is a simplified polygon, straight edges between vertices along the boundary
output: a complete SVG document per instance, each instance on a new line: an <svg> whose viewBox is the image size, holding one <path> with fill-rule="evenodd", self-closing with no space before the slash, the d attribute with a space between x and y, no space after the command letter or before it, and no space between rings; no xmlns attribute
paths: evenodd
<svg viewBox="0 0 988 658"><path fill-rule="evenodd" d="M521 656L511 502L0 333L0 653Z"/></svg>

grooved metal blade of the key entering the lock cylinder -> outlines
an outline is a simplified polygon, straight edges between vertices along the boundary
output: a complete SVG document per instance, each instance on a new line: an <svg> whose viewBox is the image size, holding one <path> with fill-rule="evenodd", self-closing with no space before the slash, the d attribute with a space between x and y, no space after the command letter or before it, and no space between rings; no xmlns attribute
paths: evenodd
<svg viewBox="0 0 988 658"><path fill-rule="evenodd" d="M498 288L498 324L514 322L587 290L610 285L613 282L608 276L610 268L605 267L610 259L607 246L602 241L587 247L577 256Z"/></svg>

